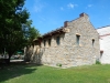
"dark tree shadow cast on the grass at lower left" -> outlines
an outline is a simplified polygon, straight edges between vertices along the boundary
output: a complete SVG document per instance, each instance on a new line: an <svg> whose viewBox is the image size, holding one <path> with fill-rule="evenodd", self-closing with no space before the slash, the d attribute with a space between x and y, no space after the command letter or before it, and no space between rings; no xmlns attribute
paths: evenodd
<svg viewBox="0 0 110 83"><path fill-rule="evenodd" d="M35 66L35 68L34 68ZM10 65L0 65L0 83L21 75L31 74L36 69L36 64L24 62L11 62Z"/></svg>

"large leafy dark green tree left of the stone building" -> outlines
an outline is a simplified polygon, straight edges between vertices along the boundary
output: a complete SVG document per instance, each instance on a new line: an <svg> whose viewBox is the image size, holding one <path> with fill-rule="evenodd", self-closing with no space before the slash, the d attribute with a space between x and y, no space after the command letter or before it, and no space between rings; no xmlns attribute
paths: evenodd
<svg viewBox="0 0 110 83"><path fill-rule="evenodd" d="M34 30L29 20L30 13L23 6L24 0L0 0L0 51L8 52L9 62L15 51L28 45L26 35L31 39L31 31Z"/></svg>

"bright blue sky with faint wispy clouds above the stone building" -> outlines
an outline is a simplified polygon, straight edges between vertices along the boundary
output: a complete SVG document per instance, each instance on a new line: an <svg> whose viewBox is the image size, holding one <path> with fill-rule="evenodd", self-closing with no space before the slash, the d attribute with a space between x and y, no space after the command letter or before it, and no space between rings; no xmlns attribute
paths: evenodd
<svg viewBox="0 0 110 83"><path fill-rule="evenodd" d="M110 0L25 0L24 8L41 34L63 27L82 12L95 29L110 25Z"/></svg>

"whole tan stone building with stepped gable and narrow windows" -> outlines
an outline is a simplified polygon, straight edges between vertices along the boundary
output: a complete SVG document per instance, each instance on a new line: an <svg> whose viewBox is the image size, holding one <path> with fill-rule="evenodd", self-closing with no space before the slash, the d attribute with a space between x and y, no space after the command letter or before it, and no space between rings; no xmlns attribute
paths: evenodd
<svg viewBox="0 0 110 83"><path fill-rule="evenodd" d="M31 62L56 66L95 64L100 56L99 35L86 13L34 40Z"/></svg>

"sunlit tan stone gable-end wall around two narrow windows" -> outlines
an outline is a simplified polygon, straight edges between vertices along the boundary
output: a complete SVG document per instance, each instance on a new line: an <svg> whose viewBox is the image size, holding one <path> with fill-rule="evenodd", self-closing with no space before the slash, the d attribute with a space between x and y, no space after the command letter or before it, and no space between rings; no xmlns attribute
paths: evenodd
<svg viewBox="0 0 110 83"><path fill-rule="evenodd" d="M65 37L67 38L66 42L69 42L67 45L73 48L73 51L69 53L69 59L73 59L70 61L72 65L96 63L96 59L99 59L100 55L99 39L98 33L90 23L88 15L85 14L75 21L68 22L67 28L70 29L70 32L66 33ZM79 45L76 43L76 34L80 35ZM94 46L92 40L95 40Z"/></svg>

